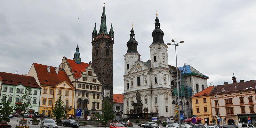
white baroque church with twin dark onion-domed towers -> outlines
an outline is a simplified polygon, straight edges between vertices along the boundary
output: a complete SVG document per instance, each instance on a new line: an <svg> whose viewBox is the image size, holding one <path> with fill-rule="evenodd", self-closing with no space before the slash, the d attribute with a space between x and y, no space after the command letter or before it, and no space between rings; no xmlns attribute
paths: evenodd
<svg viewBox="0 0 256 128"><path fill-rule="evenodd" d="M155 29L152 32L153 42L149 46L150 60L146 62L140 60L140 54L137 51L138 42L134 38L133 28L130 40L127 42L127 53L124 55L123 94L123 112L124 118L127 119L168 118L175 115L175 104L178 102L175 102L173 94L175 86L177 88L176 67L168 65L168 46L164 44L164 32L160 29L157 16L155 21ZM198 85L201 84L205 86L204 88L207 87L208 78L202 78L195 74L193 76L192 82L190 77L190 83L188 83L192 88L190 88L190 92L200 92ZM191 108L190 98L184 99L182 102L185 106L184 111ZM187 115L191 113L190 109ZM184 114L186 115L185 112Z"/></svg>

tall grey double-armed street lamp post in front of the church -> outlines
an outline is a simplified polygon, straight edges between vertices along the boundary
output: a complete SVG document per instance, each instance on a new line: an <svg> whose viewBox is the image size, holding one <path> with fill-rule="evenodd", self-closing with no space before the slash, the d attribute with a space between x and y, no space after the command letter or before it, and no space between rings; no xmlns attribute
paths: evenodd
<svg viewBox="0 0 256 128"><path fill-rule="evenodd" d="M172 39L172 42L175 45L175 57L176 57L176 75L177 75L177 95L178 95L178 115L179 115L179 128L180 128L180 94L179 94L179 81L178 81L178 65L177 65L177 52L176 52L176 46L179 46L180 43L184 43L184 41L180 41L179 43L175 44L174 40ZM167 43L167 45L171 45L171 43Z"/></svg>

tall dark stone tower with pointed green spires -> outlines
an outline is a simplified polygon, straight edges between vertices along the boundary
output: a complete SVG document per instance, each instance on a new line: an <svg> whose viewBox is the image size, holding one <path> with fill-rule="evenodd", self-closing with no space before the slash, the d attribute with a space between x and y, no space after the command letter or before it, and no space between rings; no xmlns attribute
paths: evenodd
<svg viewBox="0 0 256 128"><path fill-rule="evenodd" d="M114 31L111 24L107 31L105 3L101 16L100 31L97 33L96 24L92 32L92 68L102 84L103 100L113 103L113 45ZM103 102L102 102L103 103Z"/></svg>

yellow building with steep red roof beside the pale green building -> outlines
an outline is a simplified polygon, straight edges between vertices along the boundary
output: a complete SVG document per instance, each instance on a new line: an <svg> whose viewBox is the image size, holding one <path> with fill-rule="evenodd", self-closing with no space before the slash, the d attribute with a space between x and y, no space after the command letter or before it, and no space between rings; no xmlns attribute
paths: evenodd
<svg viewBox="0 0 256 128"><path fill-rule="evenodd" d="M39 114L51 115L54 102L61 95L67 117L74 114L75 87L62 68L33 63L27 76L34 76L41 89Z"/></svg>

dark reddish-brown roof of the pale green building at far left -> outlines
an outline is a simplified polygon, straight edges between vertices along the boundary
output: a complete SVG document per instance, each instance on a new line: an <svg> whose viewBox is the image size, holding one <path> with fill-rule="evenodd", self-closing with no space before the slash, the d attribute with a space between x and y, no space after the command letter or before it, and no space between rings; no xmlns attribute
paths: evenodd
<svg viewBox="0 0 256 128"><path fill-rule="evenodd" d="M32 76L0 72L0 80L2 80L2 83L4 84L11 84L11 85L23 84L24 86L27 86L27 87L41 88L36 83L36 79Z"/></svg>

